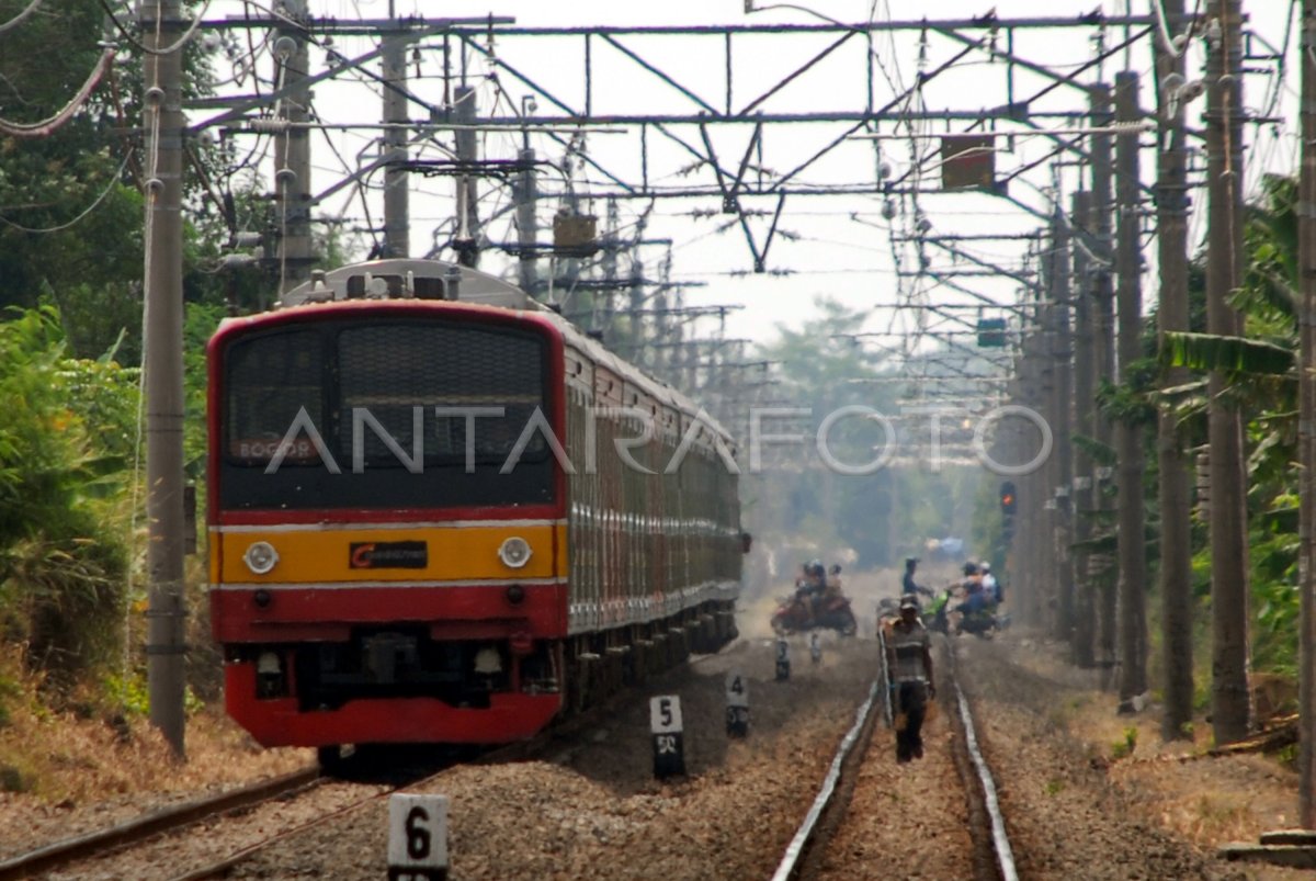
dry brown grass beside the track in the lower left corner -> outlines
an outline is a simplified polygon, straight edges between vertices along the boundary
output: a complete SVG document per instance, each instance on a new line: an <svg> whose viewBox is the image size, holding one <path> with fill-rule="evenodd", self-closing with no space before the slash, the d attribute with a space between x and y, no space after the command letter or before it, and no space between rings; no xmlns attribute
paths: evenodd
<svg viewBox="0 0 1316 881"><path fill-rule="evenodd" d="M47 803L86 803L120 795L175 793L278 774L312 759L311 751L267 751L233 724L222 707L195 712L187 726L187 760L143 718L122 718L71 702L55 712L37 697L12 647L0 649L0 791Z"/></svg>

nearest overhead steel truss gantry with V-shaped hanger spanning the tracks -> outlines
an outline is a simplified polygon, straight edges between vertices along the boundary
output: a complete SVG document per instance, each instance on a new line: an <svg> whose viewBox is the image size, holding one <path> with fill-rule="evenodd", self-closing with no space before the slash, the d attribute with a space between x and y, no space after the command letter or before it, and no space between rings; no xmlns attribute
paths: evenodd
<svg viewBox="0 0 1316 881"><path fill-rule="evenodd" d="M954 122L966 122L965 132L987 130L996 121L1020 124L1030 126L1032 130L1046 134L1045 125L1073 124L1087 117L1086 108L1065 109L1034 109L1034 104L1046 93L1070 87L1084 91L1087 87L1078 82L1078 78L1104 59L1121 51L1125 46L1145 38L1153 33L1157 20L1153 16L1101 16L1090 13L1074 17L1028 17L1028 18L998 18L994 13L971 18L954 18L944 21L929 20L903 20L903 21L866 21L855 24L779 24L779 25L717 25L717 26L657 26L657 28L613 28L613 26L583 26L583 28L521 28L508 18L490 16L486 20L471 18L425 18L412 16L405 18L363 18L358 21L340 21L328 17L300 16L241 16L229 18L212 18L201 22L204 29L300 29L308 40L317 41L321 49L330 53L334 65L330 70L309 76L300 83L300 88L307 88L317 82L330 79L349 70L362 71L371 75L386 90L396 91L405 99L408 107L417 108L424 116L415 119L409 125L417 133L437 133L459 129L463 121L458 120L451 95L457 83L466 84L478 79L472 68L484 65L491 72L483 78L494 82L497 88L528 90L533 96L536 107L544 107L544 112L521 113L488 113L482 116L476 125L482 130L505 129L509 132L536 132L563 147L569 153L575 153L595 174L615 187L607 192L592 191L595 199L654 199L654 198L716 198L721 200L724 213L737 215L738 224L746 240L746 245L753 255L754 271L763 273L767 267L770 248L778 232L778 224L786 199L791 196L820 196L820 195L880 195L890 192L891 187L899 186L905 176L895 182L883 182L874 178L866 183L840 183L819 184L808 183L801 175L816 167L819 161L833 153L849 138L863 132L876 132L883 124L900 124L915 121L942 121L948 126ZM1088 63L1079 68L1059 74L1051 71L1046 65L1029 61L1016 50L1015 36L1020 30L1038 30L1051 28L1087 28L1104 30L1107 28L1124 28L1128 36L1115 46L1104 49ZM913 83L891 100L879 104L878 101L878 70L876 54L873 37L880 32L907 32L913 30L924 36L934 34L945 38L957 46L941 63L930 70L920 71ZM357 58L345 58L325 38L332 37L376 37L380 45ZM809 58L799 63L784 75L772 75L759 79L754 68L737 66L737 61L746 57L745 43L779 37L817 38L819 47ZM671 72L658 54L657 43L663 41L682 40L687 57L712 58L721 57L721 76L716 83L701 83L700 86L683 82L680 76ZM554 53L553 70L540 70L533 61L522 61L520 46L526 41L557 40L565 43L565 50ZM657 42L655 42L657 41ZM696 41L697 45L691 45ZM1004 42L1004 45L1001 45ZM443 87L442 97L430 100L418 93L417 88L397 84L370 74L365 65L382 57L390 46L405 45L413 53L437 53L442 62ZM707 49L705 49L707 45ZM924 86L934 80L942 72L953 68L965 58L975 53L990 53L994 59L999 59L1004 67L1007 103L998 108L969 108L969 109L941 109L926 111L915 109L911 105L911 96ZM574 65L571 62L575 62ZM674 97L675 105L671 112L665 113L637 113L625 101L609 96L607 90L597 87L597 71L600 66L612 62L625 62L632 72L647 75L653 83L659 84L666 93ZM863 107L819 109L812 104L809 109L795 109L782 107L790 104L787 100L790 90L808 88L811 76L816 75L824 66L834 74L837 65L850 65L845 82L862 82ZM563 71L575 70L570 76L578 76L574 82L559 84L563 80ZM1049 79L1050 83L1042 90L1019 97L1016 95L1016 74L1028 71ZM716 87L716 88L715 88ZM715 93L716 92L716 93ZM195 109L226 107L228 109L217 116L201 120L191 126L193 133L205 128L222 126L233 132L249 130L245 122L249 115L267 105L270 101L293 93L293 87L286 86L267 95L229 96L192 101L190 107ZM817 92L812 92L817 95ZM749 97L745 97L749 96ZM816 101L813 101L816 103ZM509 101L513 109L515 101ZM784 124L812 122L826 124L834 130L822 140L821 146L807 159L794 165L786 171L775 171L763 166L762 158L765 145L771 133ZM738 161L725 163L719 155L719 150L709 134L712 126L751 126L745 147L740 153ZM588 132L597 126L628 126L638 129L638 180L633 175L616 170L612 163L604 163L588 151L576 149L575 144L563 136L563 132L580 129ZM684 132L683 129L694 129ZM951 132L948 132L950 134ZM692 159L692 170L707 170L712 174L708 183L695 183L686 186L659 186L654 183L650 169L650 140L661 137L675 145ZM1061 136L1048 136L1057 140L1057 150L1082 151L1080 138L1065 140ZM753 162L754 158L758 162ZM507 165L507 161L503 161ZM386 158L363 167L358 178L378 171L390 165ZM921 167L916 163L913 169ZM520 167L520 166L519 166ZM413 169L418 170L418 169ZM505 170L504 170L505 171ZM1021 173L1021 171L1020 171ZM492 174L492 173L491 173ZM318 196L312 196L309 204L318 204L325 198L341 190L343 183L336 183L330 190ZM562 194L542 192L541 199L555 199ZM775 208L770 212L766 230L755 233L750 224L750 217L758 211L747 211L742 204L742 198L771 198L775 199Z"/></svg>

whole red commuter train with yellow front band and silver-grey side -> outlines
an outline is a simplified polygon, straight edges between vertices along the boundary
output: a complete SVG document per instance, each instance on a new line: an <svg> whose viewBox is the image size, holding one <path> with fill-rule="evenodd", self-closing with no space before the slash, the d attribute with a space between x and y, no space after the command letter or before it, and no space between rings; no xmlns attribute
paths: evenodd
<svg viewBox="0 0 1316 881"><path fill-rule="evenodd" d="M208 365L212 628L259 743L525 739L736 636L730 437L519 288L317 273Z"/></svg>

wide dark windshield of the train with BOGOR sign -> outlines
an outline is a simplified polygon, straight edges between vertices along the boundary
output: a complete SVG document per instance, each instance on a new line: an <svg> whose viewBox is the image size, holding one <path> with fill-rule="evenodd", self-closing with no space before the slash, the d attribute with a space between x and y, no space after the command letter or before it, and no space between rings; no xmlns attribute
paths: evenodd
<svg viewBox="0 0 1316 881"><path fill-rule="evenodd" d="M321 320L236 340L221 504L550 502L547 377L546 340L500 325Z"/></svg>

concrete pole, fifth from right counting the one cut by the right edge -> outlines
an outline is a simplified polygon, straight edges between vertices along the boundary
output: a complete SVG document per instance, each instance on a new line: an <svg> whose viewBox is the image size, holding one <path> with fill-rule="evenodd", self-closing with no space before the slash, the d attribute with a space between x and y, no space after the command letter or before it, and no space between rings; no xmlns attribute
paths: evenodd
<svg viewBox="0 0 1316 881"><path fill-rule="evenodd" d="M1111 125L1111 87L1107 83L1096 83L1091 90L1092 125L1109 128ZM1092 136L1092 237L1095 240L1096 265L1092 270L1092 333L1096 337L1094 371L1098 379L1111 381L1115 378L1115 291L1111 284L1111 270L1113 267L1113 253L1111 248L1111 136ZM1092 410L1094 437L1103 446L1112 446L1111 420L1100 410ZM1105 494L1103 483L1108 483L1111 467L1098 465L1092 475L1092 507L1100 514L1105 510ZM1096 575L1099 587L1098 610L1098 662L1103 669L1111 670L1115 665L1116 645L1116 578L1112 577L1113 560L1109 554L1096 554L1100 569ZM1090 558L1091 560L1091 558Z"/></svg>

